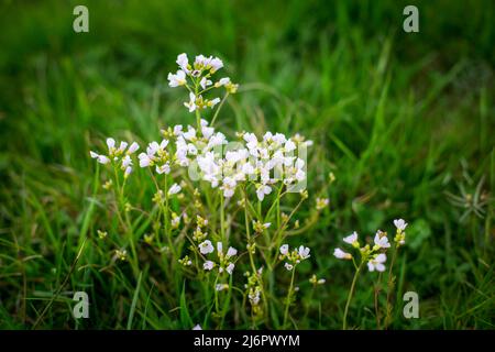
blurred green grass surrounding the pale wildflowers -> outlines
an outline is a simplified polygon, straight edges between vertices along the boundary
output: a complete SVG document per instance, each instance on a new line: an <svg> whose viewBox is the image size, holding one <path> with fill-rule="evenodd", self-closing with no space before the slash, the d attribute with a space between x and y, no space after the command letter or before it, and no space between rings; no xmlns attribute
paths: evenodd
<svg viewBox="0 0 495 352"><path fill-rule="evenodd" d="M79 3L87 34L72 30ZM72 272L81 239L106 226L88 150L193 122L166 81L187 52L219 55L242 85L221 129L300 132L316 141L309 190L337 176L330 211L305 234L327 285L300 297L311 309L299 328L340 328L352 275L331 255L341 237L403 217L398 288L418 292L420 319L398 307L393 328L493 329L495 4L415 1L420 32L407 34L408 3L2 1L0 327L31 328L43 315L37 327L190 328L153 265L136 286L125 271L92 268L108 256L90 245ZM471 211L480 202L482 217ZM359 283L353 326L374 328L373 277ZM89 321L72 318L79 289L91 293Z"/></svg>

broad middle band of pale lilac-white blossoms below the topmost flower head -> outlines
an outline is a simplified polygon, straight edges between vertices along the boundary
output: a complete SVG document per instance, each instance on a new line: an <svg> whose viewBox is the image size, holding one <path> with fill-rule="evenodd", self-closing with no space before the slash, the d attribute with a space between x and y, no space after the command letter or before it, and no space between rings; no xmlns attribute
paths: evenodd
<svg viewBox="0 0 495 352"><path fill-rule="evenodd" d="M212 188L221 189L226 198L231 198L240 184L254 185L257 199L263 201L277 183L290 187L306 179L305 161L295 154L298 148L306 148L311 141L305 141L300 135L287 138L282 133L266 132L262 140L253 133L242 132L240 142L229 143L226 135L200 120L201 130L188 125L175 125L163 134L168 139L153 141L146 151L139 154L139 165L153 168L158 175L169 174L174 167L189 167L193 174L208 182ZM114 140L108 139L109 156L95 152L91 157L101 164L110 161L121 164L125 176L132 170L131 154L139 145L132 143L127 150L127 142L114 147ZM231 148L223 147L233 145ZM177 186L172 194L180 190ZM317 208L322 209L328 199L319 199Z"/></svg>

